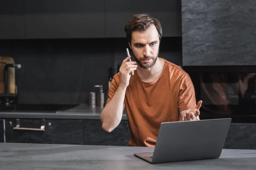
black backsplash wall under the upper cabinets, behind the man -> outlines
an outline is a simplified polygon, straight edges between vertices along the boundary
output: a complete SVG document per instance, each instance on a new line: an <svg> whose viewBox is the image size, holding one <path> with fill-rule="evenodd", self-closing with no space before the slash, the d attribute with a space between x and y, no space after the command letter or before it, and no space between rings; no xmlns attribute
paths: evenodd
<svg viewBox="0 0 256 170"><path fill-rule="evenodd" d="M22 65L16 71L18 102L33 104L87 103L94 85L106 92L108 69L117 71L126 48L125 38L0 40L0 56ZM181 51L181 37L162 38L159 57L181 65Z"/></svg>

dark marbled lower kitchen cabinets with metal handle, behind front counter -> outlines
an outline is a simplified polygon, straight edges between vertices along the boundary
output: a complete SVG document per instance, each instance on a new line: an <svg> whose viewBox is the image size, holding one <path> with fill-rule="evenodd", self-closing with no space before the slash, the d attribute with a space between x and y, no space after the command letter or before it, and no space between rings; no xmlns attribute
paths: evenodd
<svg viewBox="0 0 256 170"><path fill-rule="evenodd" d="M42 119L20 119L19 122L5 119L6 142L126 146L130 140L127 120L122 120L111 133L102 129L100 120L43 121L44 124ZM17 124L23 130L18 130ZM256 149L255 131L256 124L231 123L224 149ZM3 119L0 119L0 142L4 142Z"/></svg>

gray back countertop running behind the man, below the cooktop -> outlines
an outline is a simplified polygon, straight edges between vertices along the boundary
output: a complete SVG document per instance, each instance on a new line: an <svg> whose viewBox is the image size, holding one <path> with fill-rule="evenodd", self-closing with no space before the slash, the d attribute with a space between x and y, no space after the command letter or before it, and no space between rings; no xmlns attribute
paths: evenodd
<svg viewBox="0 0 256 170"><path fill-rule="evenodd" d="M57 113L47 112L0 112L0 119L79 119L79 120L99 120L103 108L89 107L86 104L80 104L66 111ZM127 120L124 111L122 120Z"/></svg>

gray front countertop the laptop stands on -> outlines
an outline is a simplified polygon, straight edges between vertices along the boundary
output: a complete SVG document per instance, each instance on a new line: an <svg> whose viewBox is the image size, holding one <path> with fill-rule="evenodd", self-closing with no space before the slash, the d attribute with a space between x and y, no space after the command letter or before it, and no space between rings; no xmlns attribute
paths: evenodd
<svg viewBox="0 0 256 170"><path fill-rule="evenodd" d="M222 150L218 159L150 164L133 154L152 147L0 143L0 170L255 170L256 150Z"/></svg>

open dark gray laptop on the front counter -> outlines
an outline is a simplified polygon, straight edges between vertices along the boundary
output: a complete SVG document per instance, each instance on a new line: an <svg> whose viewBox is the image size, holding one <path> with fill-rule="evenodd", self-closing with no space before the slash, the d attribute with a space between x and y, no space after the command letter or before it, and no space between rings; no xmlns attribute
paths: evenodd
<svg viewBox="0 0 256 170"><path fill-rule="evenodd" d="M134 153L134 156L152 164L218 158L231 120L163 122L154 152Z"/></svg>

